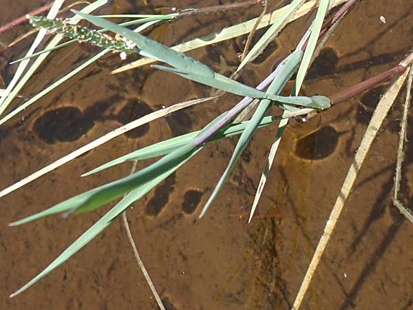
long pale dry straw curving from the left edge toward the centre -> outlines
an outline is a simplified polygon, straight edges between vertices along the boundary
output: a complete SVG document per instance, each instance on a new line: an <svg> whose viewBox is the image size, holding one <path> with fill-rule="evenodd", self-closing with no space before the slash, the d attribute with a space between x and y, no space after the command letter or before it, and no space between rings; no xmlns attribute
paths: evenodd
<svg viewBox="0 0 413 310"><path fill-rule="evenodd" d="M72 159L78 156L81 156L82 154L85 154L86 152L89 152L91 149L94 149L95 147L98 147L99 145L102 145L103 143L106 143L107 141L112 140L113 138L116 138L117 136L120 136L121 134L124 134L125 132L129 132L129 130L133 130L136 127L142 126L146 123L149 123L150 121L156 120L157 118L162 118L164 116L167 116L168 114L184 109L185 107L190 107L191 105L196 105L198 103L204 103L206 101L210 101L215 98L216 97L213 96L213 97L193 99L193 100L184 101L181 103L176 103L175 105L171 105L170 107L166 107L165 109L152 112L150 114L142 116L141 118L136 119L135 121L132 121L131 123L127 123L126 125L118 127L116 128L116 130L113 130L112 132L105 134L105 136L101 136L100 138L92 141L91 143L87 143L87 145L83 145L83 147L76 149L74 152L67 154L66 156L63 156L62 158L59 158L54 163L51 163L50 165L43 167L39 171L34 172L34 174L30 174L30 176L27 176L23 178L22 180L19 180L19 182L14 183L10 187L6 187L0 192L0 197L10 194L14 190L22 187L23 185L26 185L32 182L32 180L36 180L36 178L43 176L43 174L47 174L47 172L51 172L57 167L60 167L61 165L64 165L65 163L72 161Z"/></svg>

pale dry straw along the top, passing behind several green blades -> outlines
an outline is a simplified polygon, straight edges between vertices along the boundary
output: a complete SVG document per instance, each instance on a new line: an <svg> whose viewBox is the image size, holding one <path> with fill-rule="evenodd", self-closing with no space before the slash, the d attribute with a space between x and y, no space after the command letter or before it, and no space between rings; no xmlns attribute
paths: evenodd
<svg viewBox="0 0 413 310"><path fill-rule="evenodd" d="M339 6L341 3L344 3L346 1L348 0L332 0L330 3L332 7L335 7L335 6ZM304 3L303 6L301 6L301 8L297 10L297 12L295 12L293 18L290 19L289 22L295 21L296 19L303 17L305 14L310 12L310 10L313 10L314 6L317 3L318 3L318 0L312 0L312 1L308 1ZM264 17L262 17L260 24L257 25L257 29L267 27L268 25L271 25L272 23L274 23L277 19L279 19L279 17L282 16L282 14L284 14L285 10L286 10L286 6L274 12L265 14ZM257 19L258 18L250 19L249 21L246 21L244 23L233 25L229 28L224 28L219 33L215 34L214 39L197 38L197 39L193 39L191 41L188 41L182 44L175 45L172 47L172 49L178 52L187 52L189 50L194 50L195 48L202 48L203 46L206 46L206 45L219 43L219 42L222 42L228 39L241 36L243 34L247 34L248 32L251 32L255 23L257 22ZM207 37L210 37L210 36L207 36ZM123 72L129 69L138 68L142 65L147 65L155 61L156 60L154 59L149 59L145 57L145 58L139 59L138 61L134 61L133 63L129 63L129 65L124 65L123 67L112 71L112 73L115 74L115 73Z"/></svg>

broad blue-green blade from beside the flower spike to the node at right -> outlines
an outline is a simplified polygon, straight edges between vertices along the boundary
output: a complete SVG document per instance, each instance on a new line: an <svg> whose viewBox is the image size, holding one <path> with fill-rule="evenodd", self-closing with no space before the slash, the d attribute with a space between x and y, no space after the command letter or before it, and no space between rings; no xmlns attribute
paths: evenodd
<svg viewBox="0 0 413 310"><path fill-rule="evenodd" d="M240 96L249 96L259 99L271 99L273 101L280 101L283 103L304 105L321 109L328 108L330 106L330 101L323 96L317 96L313 99L313 97L286 98L282 96L273 96L271 94L266 94L265 92L261 92L260 90L256 90L253 87L249 87L237 81L231 80L226 76L218 74L204 63L196 61L195 59L181 52L176 52L175 50L172 50L162 43L153 41L145 36L142 36L141 34L121 27L120 25L116 25L116 23L112 23L100 17L84 14L81 12L77 12L77 14L87 19L87 21L94 23L94 25L107 28L112 32L120 34L122 37L133 41L140 49L138 51L139 54L150 54L156 59L159 59L160 61L163 61L175 67L166 68L156 66L156 68L162 68L163 70L184 76L187 79L191 79L199 83L204 83L206 85L218 88L220 90L232 92L233 94L238 94Z"/></svg>

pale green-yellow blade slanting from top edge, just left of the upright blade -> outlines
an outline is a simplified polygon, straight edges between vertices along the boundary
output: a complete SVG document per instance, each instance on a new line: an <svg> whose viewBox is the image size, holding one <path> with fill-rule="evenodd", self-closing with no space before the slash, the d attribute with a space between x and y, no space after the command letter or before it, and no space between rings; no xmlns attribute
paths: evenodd
<svg viewBox="0 0 413 310"><path fill-rule="evenodd" d="M264 49L267 47L275 37L279 34L279 32L284 28L284 26L290 21L293 17L294 13L298 10L298 8L304 3L304 0L294 0L288 6L286 6L283 14L271 25L271 27L265 32L265 34L260 38L260 40L255 43L253 48L246 54L245 58L242 60L240 65L237 68L237 72L239 72L246 63L253 61L257 56L260 56Z"/></svg>

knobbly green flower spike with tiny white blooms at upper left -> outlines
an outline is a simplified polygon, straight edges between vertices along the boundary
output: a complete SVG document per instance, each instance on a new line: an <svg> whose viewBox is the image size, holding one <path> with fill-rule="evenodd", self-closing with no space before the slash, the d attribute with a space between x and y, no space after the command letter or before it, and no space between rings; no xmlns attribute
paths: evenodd
<svg viewBox="0 0 413 310"><path fill-rule="evenodd" d="M30 23L34 27L45 28L50 32L63 34L63 36L79 42L88 42L101 48L114 50L115 52L125 52L126 54L134 52L134 43L127 39L116 40L97 30L80 25L72 25L61 19L47 19L46 17L32 16L30 17Z"/></svg>

